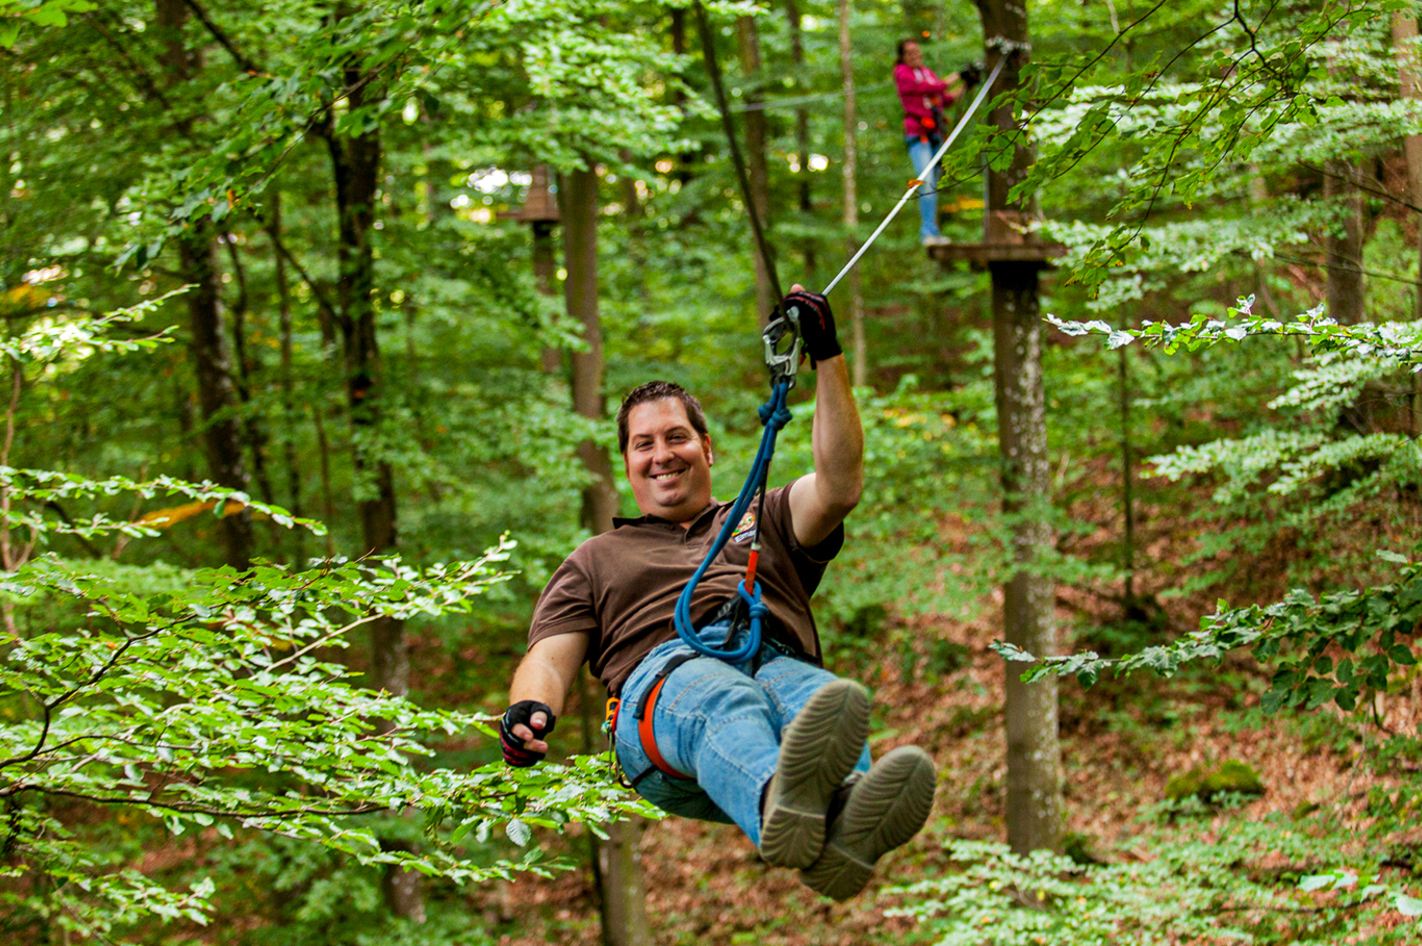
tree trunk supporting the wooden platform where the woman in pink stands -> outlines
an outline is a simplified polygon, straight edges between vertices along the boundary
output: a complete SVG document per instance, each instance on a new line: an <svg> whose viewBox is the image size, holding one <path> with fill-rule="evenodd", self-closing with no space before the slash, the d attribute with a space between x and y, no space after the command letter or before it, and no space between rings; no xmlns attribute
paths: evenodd
<svg viewBox="0 0 1422 946"><path fill-rule="evenodd" d="M994 95L1015 90L1027 65L1030 38L1027 6L1014 0L977 0L983 34L1012 46ZM985 70L1004 55L990 44ZM988 118L1004 132L1017 129L1011 107L993 110ZM1007 195L1031 165L1032 155L1018 148L1005 171L988 171L987 209L1022 212ZM1012 558L1020 569L1004 586L1004 637L1037 656L1057 652L1051 579L1034 573L1034 563L1051 548L1047 511L1051 475L1047 464L1047 410L1042 390L1038 263L1000 262L993 276L993 343L997 388L998 451L1001 454L1003 511L1012 521ZM1059 848L1061 747L1057 738L1055 679L1032 684L1007 669L1007 841L1017 854Z"/></svg>

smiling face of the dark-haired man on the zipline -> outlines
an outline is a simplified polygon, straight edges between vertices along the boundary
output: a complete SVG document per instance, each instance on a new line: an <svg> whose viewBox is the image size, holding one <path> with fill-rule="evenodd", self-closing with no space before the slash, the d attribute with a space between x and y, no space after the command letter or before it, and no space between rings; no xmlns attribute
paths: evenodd
<svg viewBox="0 0 1422 946"><path fill-rule="evenodd" d="M646 515L688 524L711 502L711 438L697 434L677 398L631 408L623 462Z"/></svg>

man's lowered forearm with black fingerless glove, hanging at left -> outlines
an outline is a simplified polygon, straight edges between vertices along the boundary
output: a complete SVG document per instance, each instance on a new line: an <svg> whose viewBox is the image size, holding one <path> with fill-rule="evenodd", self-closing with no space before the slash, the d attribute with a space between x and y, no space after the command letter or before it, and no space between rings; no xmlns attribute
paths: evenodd
<svg viewBox="0 0 1422 946"><path fill-rule="evenodd" d="M577 633L545 637L523 654L509 684L509 708L499 720L503 761L509 765L542 761L547 753L543 737L553 731L584 656L587 634Z"/></svg>

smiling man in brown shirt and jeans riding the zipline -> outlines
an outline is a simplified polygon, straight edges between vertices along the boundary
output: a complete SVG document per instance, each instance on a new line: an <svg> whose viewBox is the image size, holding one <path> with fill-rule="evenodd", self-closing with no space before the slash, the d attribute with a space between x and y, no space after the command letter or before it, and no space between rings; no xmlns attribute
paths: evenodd
<svg viewBox="0 0 1422 946"><path fill-rule="evenodd" d="M711 495L697 398L670 381L631 391L617 440L643 515L614 519L549 579L499 728L510 765L542 760L586 660L620 700L616 755L643 798L738 825L768 863L843 900L923 827L936 775L917 747L870 765L869 694L820 666L809 597L859 502L863 428L825 296L795 286L781 309L798 313L816 370L813 472L762 491L731 526L741 504Z"/></svg>

